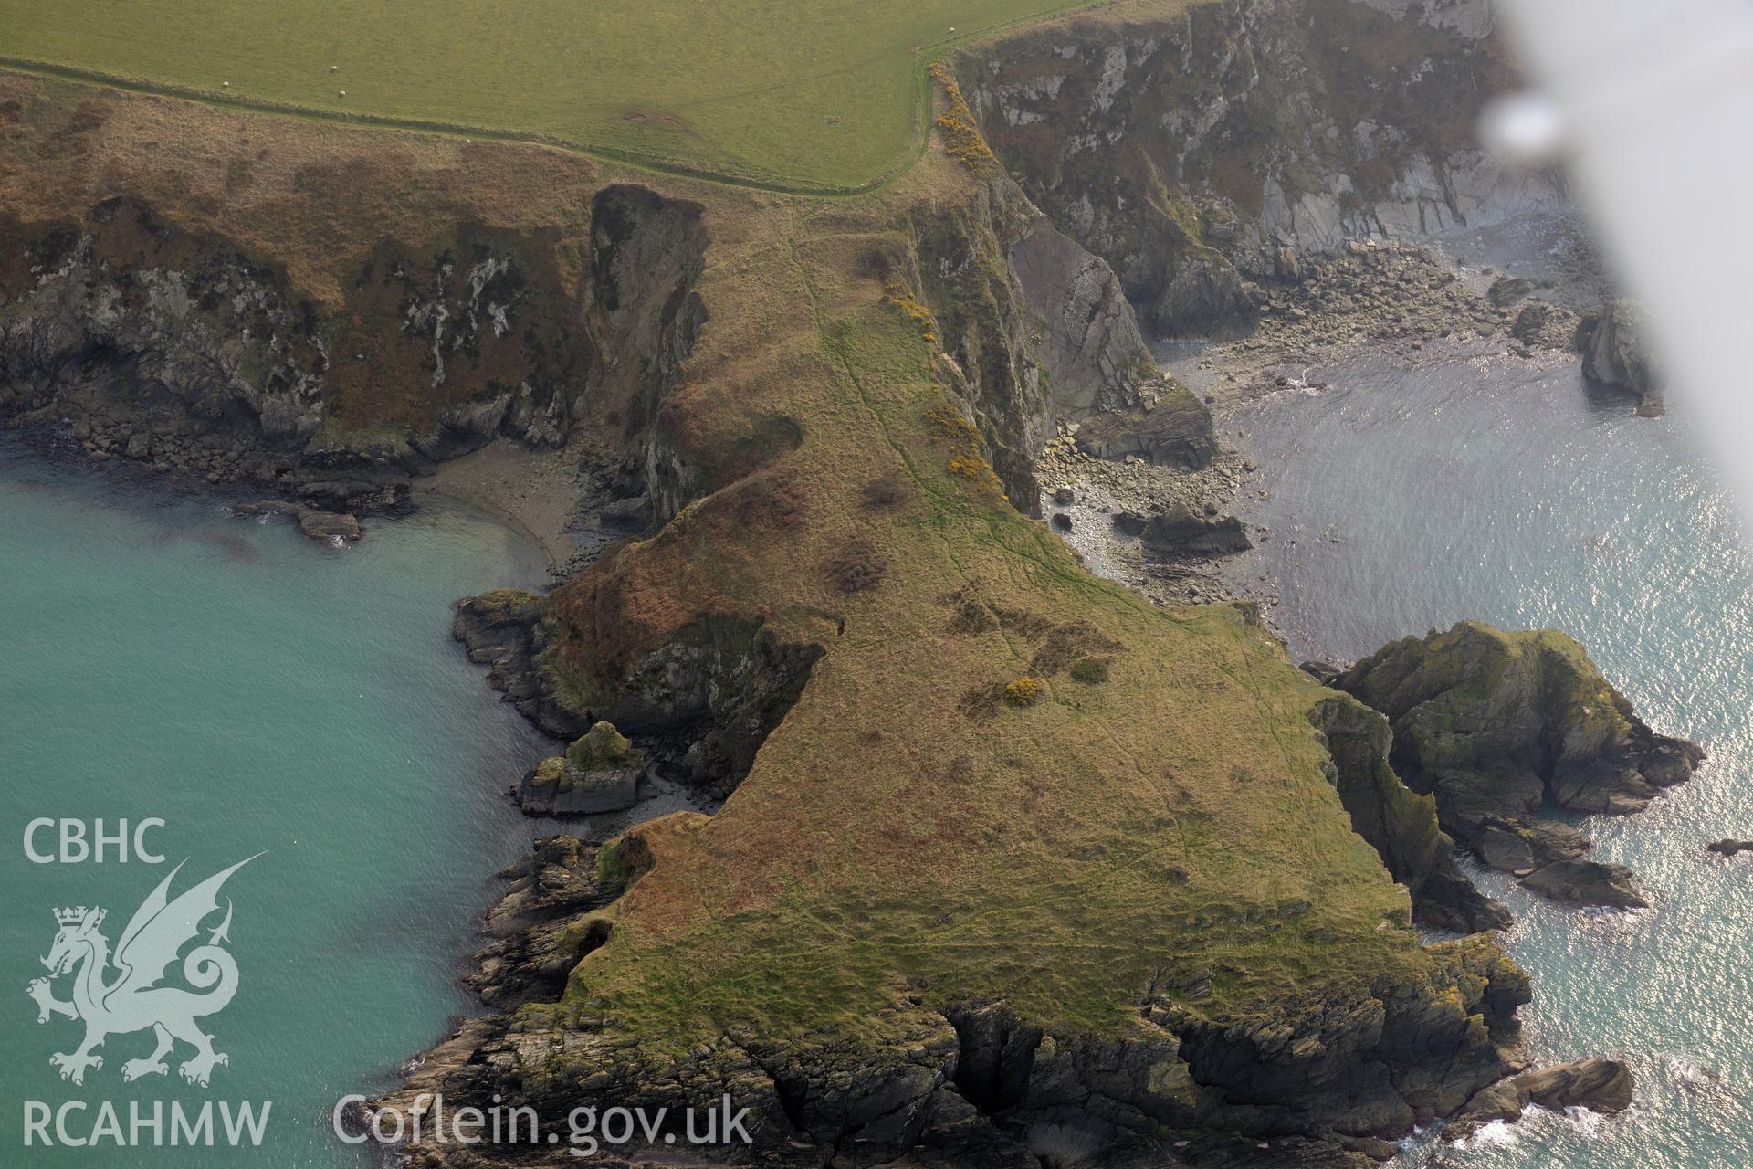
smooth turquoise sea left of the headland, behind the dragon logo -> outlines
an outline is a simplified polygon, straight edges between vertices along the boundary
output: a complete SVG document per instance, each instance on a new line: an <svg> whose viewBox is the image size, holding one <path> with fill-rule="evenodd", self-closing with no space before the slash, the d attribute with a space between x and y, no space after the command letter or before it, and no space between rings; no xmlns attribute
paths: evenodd
<svg viewBox="0 0 1753 1169"><path fill-rule="evenodd" d="M501 792L542 743L451 641L451 601L542 571L463 510L330 549L0 436L0 1165L363 1164L330 1109L387 1087L470 1010L456 978L491 875L536 832ZM168 862L33 864L35 817L161 817L147 843ZM61 1081L49 1055L82 1029L39 1025L25 994L51 910L100 904L116 941L175 862L181 892L258 852L221 899L237 997L203 1020L230 1066L186 1085L179 1048L168 1076L123 1083L153 1046L137 1032L107 1041L84 1087ZM102 1101L124 1125L131 1099L272 1111L259 1150L23 1148L25 1101L75 1099L75 1136Z"/></svg>

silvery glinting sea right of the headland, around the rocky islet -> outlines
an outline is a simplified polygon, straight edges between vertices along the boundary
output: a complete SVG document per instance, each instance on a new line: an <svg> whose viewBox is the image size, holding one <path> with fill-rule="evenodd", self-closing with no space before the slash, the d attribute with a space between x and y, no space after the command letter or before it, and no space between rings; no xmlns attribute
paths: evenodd
<svg viewBox="0 0 1753 1169"><path fill-rule="evenodd" d="M1369 359L1311 380L1336 389L1224 422L1246 433L1269 491L1250 515L1273 536L1239 571L1278 578L1292 654L1359 657L1462 617L1555 626L1653 726L1711 752L1651 811L1578 820L1597 855L1639 873L1651 910L1569 911L1481 878L1518 920L1532 1053L1627 1057L1636 1108L1532 1113L1404 1164L1753 1164L1753 862L1702 848L1753 836L1753 570L1685 394L1665 419L1636 419L1574 365L1504 358Z"/></svg>

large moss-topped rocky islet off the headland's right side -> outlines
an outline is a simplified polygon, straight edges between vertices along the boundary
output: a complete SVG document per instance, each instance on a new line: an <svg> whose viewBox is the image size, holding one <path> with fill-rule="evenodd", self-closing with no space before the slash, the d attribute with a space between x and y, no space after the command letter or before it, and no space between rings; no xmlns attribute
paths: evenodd
<svg viewBox="0 0 1753 1169"><path fill-rule="evenodd" d="M1395 769L1487 864L1557 901L1643 904L1622 866L1579 861L1586 841L1537 811L1639 811L1704 752L1651 731L1574 638L1460 622L1394 641L1331 685L1388 717Z"/></svg>

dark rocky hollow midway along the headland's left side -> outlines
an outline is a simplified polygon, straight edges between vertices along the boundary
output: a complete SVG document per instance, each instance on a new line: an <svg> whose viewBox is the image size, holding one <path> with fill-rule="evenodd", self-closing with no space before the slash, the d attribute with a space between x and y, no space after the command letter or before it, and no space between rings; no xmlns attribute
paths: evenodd
<svg viewBox="0 0 1753 1169"><path fill-rule="evenodd" d="M798 701L822 647L782 640L759 617L710 613L645 640L626 627L635 619L619 612L617 598L605 596L615 585L596 594L600 585L591 577L568 585L584 596L563 603L564 615L535 592L466 598L452 634L470 661L487 666L489 685L549 734L578 740L608 720L657 766L706 796L726 796ZM564 640L593 645L593 664L564 682L554 670L556 622L593 610L605 622L594 633L564 629Z"/></svg>

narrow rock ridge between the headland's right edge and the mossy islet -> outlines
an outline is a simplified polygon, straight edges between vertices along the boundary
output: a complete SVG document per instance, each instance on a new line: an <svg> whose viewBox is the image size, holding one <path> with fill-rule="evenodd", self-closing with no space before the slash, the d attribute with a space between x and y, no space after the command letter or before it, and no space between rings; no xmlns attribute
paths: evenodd
<svg viewBox="0 0 1753 1169"><path fill-rule="evenodd" d="M1508 929L1509 911L1474 889L1455 864L1455 841L1437 825L1436 799L1406 787L1388 764L1394 733L1380 712L1334 696L1309 710L1327 741L1327 778L1352 827L1413 897L1413 920L1430 929Z"/></svg>

